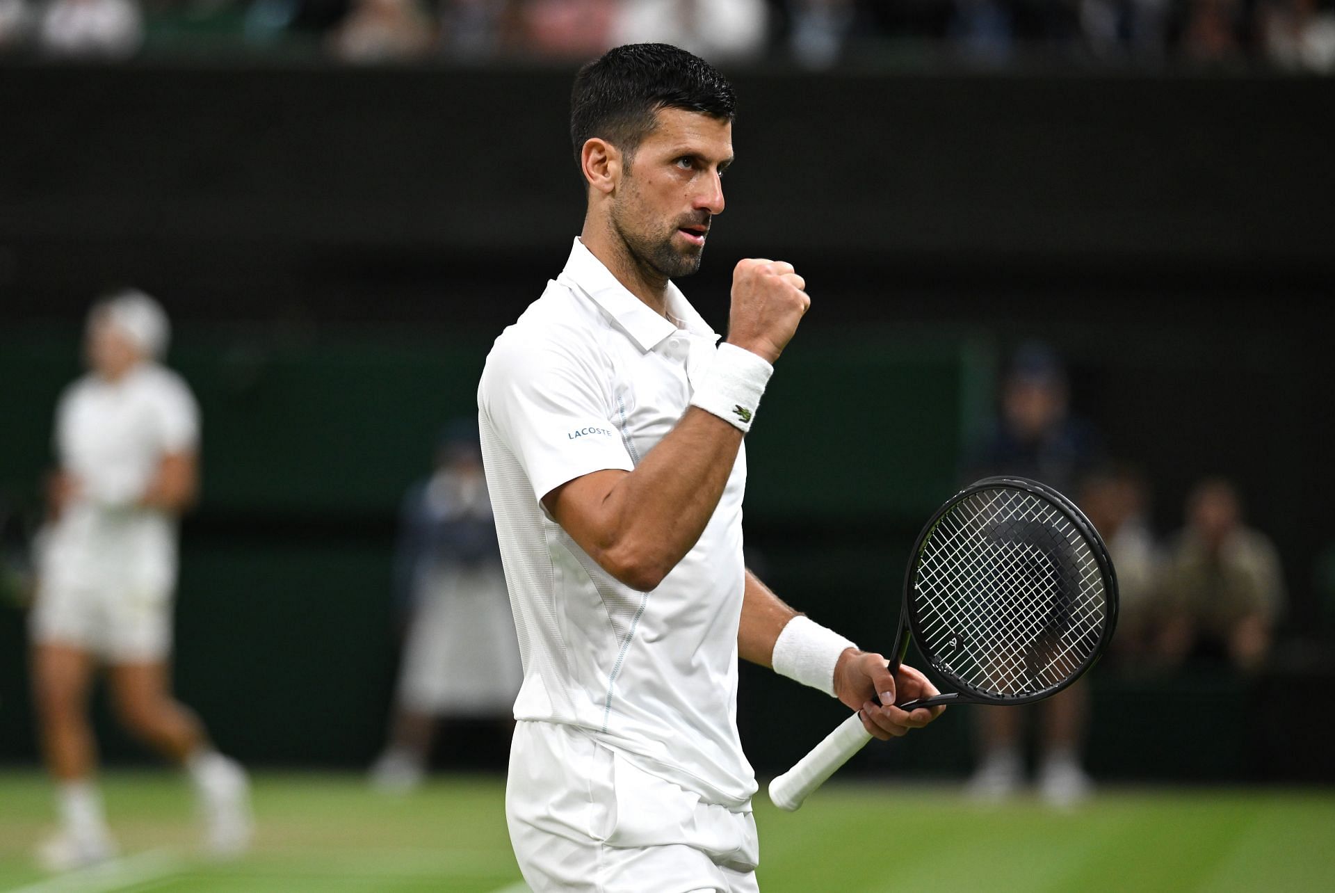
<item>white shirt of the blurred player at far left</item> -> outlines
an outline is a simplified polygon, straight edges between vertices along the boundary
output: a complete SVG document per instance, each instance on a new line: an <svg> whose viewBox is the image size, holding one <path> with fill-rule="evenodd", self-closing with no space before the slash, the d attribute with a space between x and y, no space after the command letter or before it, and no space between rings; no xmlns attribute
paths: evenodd
<svg viewBox="0 0 1335 893"><path fill-rule="evenodd" d="M167 454L196 449L199 406L186 382L158 363L120 380L84 375L56 407L60 467L79 494L51 531L51 585L170 590L176 519L135 506Z"/></svg>

